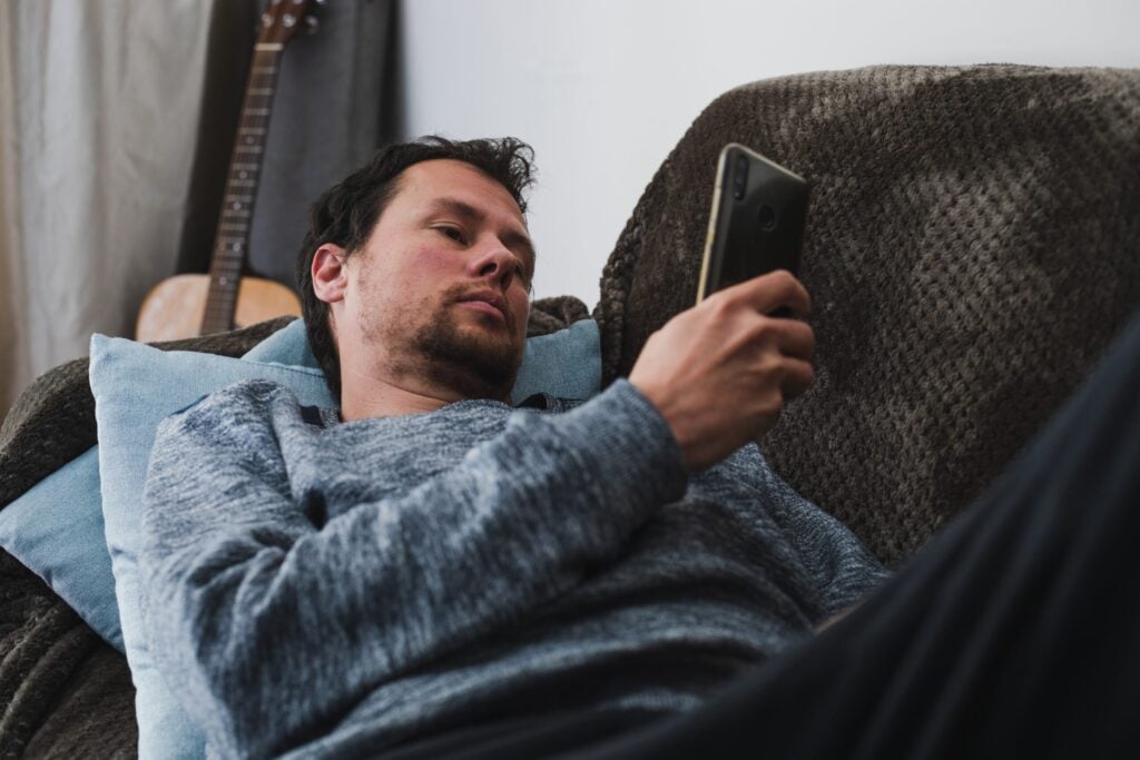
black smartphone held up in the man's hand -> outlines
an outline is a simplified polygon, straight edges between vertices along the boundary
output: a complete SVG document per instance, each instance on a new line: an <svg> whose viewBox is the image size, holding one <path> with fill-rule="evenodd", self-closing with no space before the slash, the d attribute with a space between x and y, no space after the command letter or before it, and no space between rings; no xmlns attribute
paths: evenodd
<svg viewBox="0 0 1140 760"><path fill-rule="evenodd" d="M736 142L724 146L697 303L776 269L798 276L807 195L803 177Z"/></svg>

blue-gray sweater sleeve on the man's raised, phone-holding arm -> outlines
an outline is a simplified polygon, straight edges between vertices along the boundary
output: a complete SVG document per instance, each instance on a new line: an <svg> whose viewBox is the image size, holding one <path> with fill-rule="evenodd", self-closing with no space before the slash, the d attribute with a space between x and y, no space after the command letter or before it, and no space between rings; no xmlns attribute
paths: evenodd
<svg viewBox="0 0 1140 760"><path fill-rule="evenodd" d="M311 741L565 593L687 482L668 425L619 381L564 414L514 414L458 466L318 529L320 495L294 498L274 444L280 403L296 402L245 383L168 418L144 497L152 652L226 757Z"/></svg>

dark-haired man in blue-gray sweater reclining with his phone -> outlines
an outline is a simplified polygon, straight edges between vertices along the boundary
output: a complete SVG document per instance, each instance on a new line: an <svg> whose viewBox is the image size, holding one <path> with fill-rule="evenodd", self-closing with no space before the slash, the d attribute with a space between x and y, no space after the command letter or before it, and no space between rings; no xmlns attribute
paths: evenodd
<svg viewBox="0 0 1140 760"><path fill-rule="evenodd" d="M975 597L931 593L958 578L942 561L956 547L813 638L886 572L749 443L812 382L809 300L787 272L679 314L588 402L505 403L536 263L529 179L510 139L377 154L318 202L299 263L340 414L250 382L160 428L147 626L210 746L405 760L967 746L960 711L925 704L927 681L907 676L931 668L930 689L982 703L945 660L1001 629L959 636ZM781 308L799 319L766 316Z"/></svg>

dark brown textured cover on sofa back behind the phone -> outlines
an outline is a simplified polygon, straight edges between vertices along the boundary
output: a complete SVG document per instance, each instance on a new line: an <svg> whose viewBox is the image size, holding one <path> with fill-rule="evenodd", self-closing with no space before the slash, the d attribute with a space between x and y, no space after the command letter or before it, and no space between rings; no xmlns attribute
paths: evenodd
<svg viewBox="0 0 1140 760"><path fill-rule="evenodd" d="M725 93L605 268L603 383L692 305L730 141L812 186L817 381L763 449L895 563L994 480L1140 304L1140 70L881 66Z"/></svg>

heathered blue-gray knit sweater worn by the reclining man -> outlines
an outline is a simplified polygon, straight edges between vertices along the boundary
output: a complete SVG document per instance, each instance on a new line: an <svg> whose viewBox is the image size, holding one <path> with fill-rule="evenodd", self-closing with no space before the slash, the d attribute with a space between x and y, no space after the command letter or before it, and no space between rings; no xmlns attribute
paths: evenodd
<svg viewBox="0 0 1140 760"><path fill-rule="evenodd" d="M755 444L686 475L629 383L547 402L315 425L252 381L162 424L146 628L212 753L689 709L883 578Z"/></svg>

